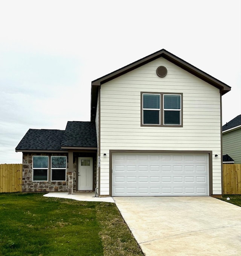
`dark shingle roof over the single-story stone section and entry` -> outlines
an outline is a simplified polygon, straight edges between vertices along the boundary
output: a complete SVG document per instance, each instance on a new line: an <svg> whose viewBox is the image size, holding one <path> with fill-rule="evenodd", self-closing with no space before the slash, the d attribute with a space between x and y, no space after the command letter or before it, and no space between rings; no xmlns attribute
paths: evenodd
<svg viewBox="0 0 241 256"><path fill-rule="evenodd" d="M67 122L66 130L29 129L16 152L65 151L71 148L97 149L93 122Z"/></svg>

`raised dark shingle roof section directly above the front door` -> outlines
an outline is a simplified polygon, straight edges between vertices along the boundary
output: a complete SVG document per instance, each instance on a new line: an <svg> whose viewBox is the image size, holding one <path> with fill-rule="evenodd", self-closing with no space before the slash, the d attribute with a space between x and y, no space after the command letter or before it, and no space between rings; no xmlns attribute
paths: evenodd
<svg viewBox="0 0 241 256"><path fill-rule="evenodd" d="M61 146L97 148L95 123L68 121Z"/></svg>

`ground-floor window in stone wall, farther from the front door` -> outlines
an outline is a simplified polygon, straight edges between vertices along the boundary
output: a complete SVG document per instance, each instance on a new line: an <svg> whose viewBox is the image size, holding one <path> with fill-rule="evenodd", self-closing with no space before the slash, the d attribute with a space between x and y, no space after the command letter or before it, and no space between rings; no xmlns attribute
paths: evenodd
<svg viewBox="0 0 241 256"><path fill-rule="evenodd" d="M33 181L47 181L48 168L48 156L33 156Z"/></svg>

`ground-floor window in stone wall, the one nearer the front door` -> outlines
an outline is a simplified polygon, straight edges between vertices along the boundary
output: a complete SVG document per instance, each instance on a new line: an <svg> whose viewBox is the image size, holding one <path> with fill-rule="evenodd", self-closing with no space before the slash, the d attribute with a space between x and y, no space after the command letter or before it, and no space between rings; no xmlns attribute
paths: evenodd
<svg viewBox="0 0 241 256"><path fill-rule="evenodd" d="M66 156L51 156L51 181L66 181Z"/></svg>

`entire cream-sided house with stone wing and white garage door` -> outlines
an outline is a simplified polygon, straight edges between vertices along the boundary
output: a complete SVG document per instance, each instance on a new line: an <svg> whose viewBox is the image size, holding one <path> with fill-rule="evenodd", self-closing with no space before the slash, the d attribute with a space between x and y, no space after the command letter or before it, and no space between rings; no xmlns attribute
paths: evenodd
<svg viewBox="0 0 241 256"><path fill-rule="evenodd" d="M228 91L225 83L164 49L96 79L91 122L55 130L63 134L57 150L51 137L41 145L37 134L26 138L29 132L17 146L28 180L23 189L220 196L221 96ZM81 123L91 129L74 129Z"/></svg>

